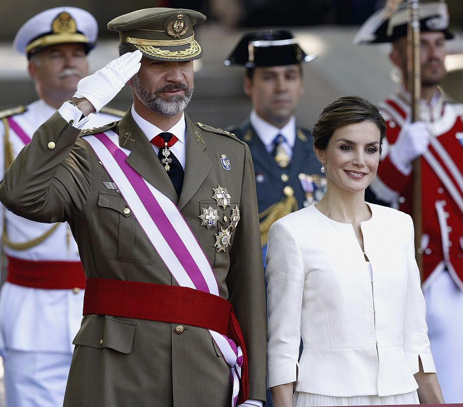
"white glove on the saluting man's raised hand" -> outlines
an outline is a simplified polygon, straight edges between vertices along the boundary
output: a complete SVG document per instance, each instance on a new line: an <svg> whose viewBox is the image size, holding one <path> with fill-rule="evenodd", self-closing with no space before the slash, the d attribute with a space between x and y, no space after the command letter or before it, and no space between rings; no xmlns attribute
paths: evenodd
<svg viewBox="0 0 463 407"><path fill-rule="evenodd" d="M138 72L142 55L138 49L125 53L94 74L80 79L74 97L86 98L97 112L100 111Z"/></svg>

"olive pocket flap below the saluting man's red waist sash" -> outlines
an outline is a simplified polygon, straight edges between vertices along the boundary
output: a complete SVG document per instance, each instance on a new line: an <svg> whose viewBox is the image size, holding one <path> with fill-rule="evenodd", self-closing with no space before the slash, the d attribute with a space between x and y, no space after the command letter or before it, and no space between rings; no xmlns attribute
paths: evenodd
<svg viewBox="0 0 463 407"><path fill-rule="evenodd" d="M134 322L122 321L113 316L89 315L72 343L95 348L109 347L128 354L132 350L135 326Z"/></svg>

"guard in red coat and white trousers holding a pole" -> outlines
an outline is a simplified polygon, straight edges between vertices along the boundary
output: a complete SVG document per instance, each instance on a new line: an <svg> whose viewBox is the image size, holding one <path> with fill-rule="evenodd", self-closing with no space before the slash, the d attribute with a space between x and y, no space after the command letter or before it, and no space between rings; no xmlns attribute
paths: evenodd
<svg viewBox="0 0 463 407"><path fill-rule="evenodd" d="M380 105L387 121L378 176L371 184L375 197L412 212L412 162L420 160L423 293L426 322L442 393L447 403L463 402L463 105L444 100L439 84L445 77L448 10L443 2L423 3L421 26L420 118L411 122L407 83L407 5L389 17L370 17L356 43L391 42L391 62L403 82Z"/></svg>

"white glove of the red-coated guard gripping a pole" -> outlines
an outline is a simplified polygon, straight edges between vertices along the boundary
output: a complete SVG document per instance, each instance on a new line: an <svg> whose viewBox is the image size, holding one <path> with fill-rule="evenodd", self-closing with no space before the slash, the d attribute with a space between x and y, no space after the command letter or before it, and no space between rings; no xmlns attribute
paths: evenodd
<svg viewBox="0 0 463 407"><path fill-rule="evenodd" d="M404 175L412 171L412 162L427 150L431 134L424 122L406 124L390 147L389 158L392 164Z"/></svg>

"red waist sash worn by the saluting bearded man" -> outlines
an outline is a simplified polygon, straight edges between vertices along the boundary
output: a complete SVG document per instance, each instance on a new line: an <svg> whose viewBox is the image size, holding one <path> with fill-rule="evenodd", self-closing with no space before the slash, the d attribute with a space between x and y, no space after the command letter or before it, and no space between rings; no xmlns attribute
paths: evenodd
<svg viewBox="0 0 463 407"><path fill-rule="evenodd" d="M240 394L242 391L247 398L248 354L233 306L229 301L189 287L88 278L83 315L90 314L191 325L226 335L237 346L241 346L243 365Z"/></svg>

